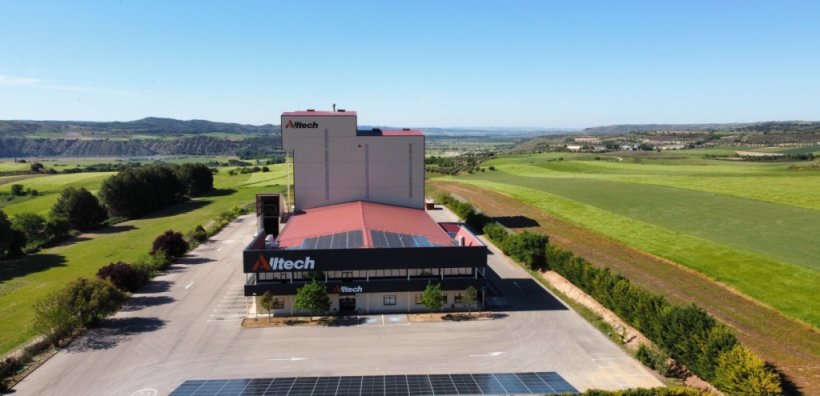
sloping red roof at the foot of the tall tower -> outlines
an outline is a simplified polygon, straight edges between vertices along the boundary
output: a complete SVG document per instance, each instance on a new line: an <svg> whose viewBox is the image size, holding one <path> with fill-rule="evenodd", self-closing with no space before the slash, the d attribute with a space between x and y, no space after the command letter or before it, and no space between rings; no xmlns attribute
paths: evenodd
<svg viewBox="0 0 820 396"><path fill-rule="evenodd" d="M362 231L363 247L375 247L370 231L426 237L433 245L452 246L447 235L423 209L356 201L306 209L288 220L277 240L282 249L298 248L306 238Z"/></svg>

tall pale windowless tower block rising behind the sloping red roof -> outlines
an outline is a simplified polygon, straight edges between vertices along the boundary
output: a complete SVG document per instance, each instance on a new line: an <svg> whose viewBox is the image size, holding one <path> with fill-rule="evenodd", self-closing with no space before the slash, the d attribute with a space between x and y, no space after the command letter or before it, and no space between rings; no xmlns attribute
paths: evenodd
<svg viewBox="0 0 820 396"><path fill-rule="evenodd" d="M297 210L357 200L424 205L424 136L357 136L352 115L282 116L283 126L290 121L318 124L282 129Z"/></svg>

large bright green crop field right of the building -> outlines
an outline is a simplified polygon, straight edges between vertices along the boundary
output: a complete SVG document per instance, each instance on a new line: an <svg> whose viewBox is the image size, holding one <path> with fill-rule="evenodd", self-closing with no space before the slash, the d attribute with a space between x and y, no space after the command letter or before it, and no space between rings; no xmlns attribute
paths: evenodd
<svg viewBox="0 0 820 396"><path fill-rule="evenodd" d="M511 195L820 327L820 172L702 155L514 156L445 179Z"/></svg>

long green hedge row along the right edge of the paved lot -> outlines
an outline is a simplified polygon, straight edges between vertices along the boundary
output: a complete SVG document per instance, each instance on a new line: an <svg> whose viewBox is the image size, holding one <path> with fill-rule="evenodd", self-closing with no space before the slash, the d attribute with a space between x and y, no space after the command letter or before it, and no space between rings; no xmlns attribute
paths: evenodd
<svg viewBox="0 0 820 396"><path fill-rule="evenodd" d="M469 203L459 202L458 206L462 213L476 212ZM726 326L700 307L672 304L607 268L595 267L570 251L550 245L546 235L527 231L511 233L489 222L483 231L505 254L528 269L552 270L572 282L638 329L666 355L721 391L755 395L782 393L780 375L740 345Z"/></svg>

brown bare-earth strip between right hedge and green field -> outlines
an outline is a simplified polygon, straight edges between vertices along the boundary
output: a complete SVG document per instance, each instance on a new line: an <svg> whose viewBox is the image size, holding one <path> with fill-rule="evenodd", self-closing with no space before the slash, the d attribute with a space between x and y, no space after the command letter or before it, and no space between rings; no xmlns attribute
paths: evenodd
<svg viewBox="0 0 820 396"><path fill-rule="evenodd" d="M804 394L820 394L820 333L812 327L700 273L583 229L507 195L466 184L432 181L430 185L464 197L487 215L510 219L511 224L505 224L510 228L544 232L550 243L595 265L609 267L672 302L699 305L732 327L744 345L775 364Z"/></svg>

